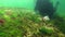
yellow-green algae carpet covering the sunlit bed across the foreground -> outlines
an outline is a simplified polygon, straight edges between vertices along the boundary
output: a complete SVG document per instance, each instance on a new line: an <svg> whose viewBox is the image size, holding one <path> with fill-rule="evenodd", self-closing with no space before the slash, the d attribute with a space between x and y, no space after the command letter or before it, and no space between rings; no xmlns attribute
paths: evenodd
<svg viewBox="0 0 65 37"><path fill-rule="evenodd" d="M11 9L10 14L6 14L4 10L1 10L3 14L0 23L3 24L0 24L0 37L65 37L65 34L55 26L51 26L52 22L43 22L41 16L32 10Z"/></svg>

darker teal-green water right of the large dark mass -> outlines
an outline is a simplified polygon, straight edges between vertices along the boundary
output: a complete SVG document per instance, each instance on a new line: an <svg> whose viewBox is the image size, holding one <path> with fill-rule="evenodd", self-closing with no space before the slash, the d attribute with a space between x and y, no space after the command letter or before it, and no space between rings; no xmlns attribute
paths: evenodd
<svg viewBox="0 0 65 37"><path fill-rule="evenodd" d="M53 0L53 3L55 4L56 1L60 1L60 5L57 8L57 14L65 17L65 0Z"/></svg>

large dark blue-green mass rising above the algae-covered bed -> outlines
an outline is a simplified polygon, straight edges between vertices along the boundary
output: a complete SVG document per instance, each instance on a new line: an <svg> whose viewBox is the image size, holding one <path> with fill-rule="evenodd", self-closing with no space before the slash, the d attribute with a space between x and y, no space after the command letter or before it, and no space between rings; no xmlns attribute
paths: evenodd
<svg viewBox="0 0 65 37"><path fill-rule="evenodd" d="M57 10L60 2L57 1L55 7L51 0L37 0L35 11L39 11L41 16L49 15L50 18L53 18L54 13Z"/></svg>

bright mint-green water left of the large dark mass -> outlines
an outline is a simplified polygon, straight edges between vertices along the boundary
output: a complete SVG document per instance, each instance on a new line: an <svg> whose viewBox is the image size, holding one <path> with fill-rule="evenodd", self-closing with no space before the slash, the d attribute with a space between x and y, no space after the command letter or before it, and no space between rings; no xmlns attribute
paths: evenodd
<svg viewBox="0 0 65 37"><path fill-rule="evenodd" d="M34 9L35 0L0 0L0 7Z"/></svg>

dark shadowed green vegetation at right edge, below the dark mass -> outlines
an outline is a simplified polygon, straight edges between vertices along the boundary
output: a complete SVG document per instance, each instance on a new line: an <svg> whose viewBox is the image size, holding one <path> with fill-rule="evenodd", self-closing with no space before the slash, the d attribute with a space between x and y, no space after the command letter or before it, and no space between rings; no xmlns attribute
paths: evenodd
<svg viewBox="0 0 65 37"><path fill-rule="evenodd" d="M56 15L53 20L54 25L65 34L65 17Z"/></svg>

